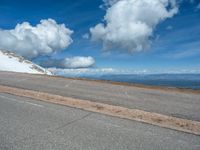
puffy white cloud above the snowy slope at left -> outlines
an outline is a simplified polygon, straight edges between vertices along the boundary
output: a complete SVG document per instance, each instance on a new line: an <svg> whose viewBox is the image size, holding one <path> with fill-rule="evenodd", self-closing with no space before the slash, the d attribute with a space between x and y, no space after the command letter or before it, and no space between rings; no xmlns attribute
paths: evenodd
<svg viewBox="0 0 200 150"><path fill-rule="evenodd" d="M41 20L36 26L23 22L11 30L0 29L0 48L34 58L67 48L73 42L72 33L53 19Z"/></svg>

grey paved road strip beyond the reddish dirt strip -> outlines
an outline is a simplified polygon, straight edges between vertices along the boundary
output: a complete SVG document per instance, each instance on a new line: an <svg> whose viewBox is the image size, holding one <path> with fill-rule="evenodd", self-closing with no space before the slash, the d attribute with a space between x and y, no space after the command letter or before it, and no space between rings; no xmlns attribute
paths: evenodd
<svg viewBox="0 0 200 150"><path fill-rule="evenodd" d="M0 72L0 85L120 105L200 121L200 94Z"/></svg>

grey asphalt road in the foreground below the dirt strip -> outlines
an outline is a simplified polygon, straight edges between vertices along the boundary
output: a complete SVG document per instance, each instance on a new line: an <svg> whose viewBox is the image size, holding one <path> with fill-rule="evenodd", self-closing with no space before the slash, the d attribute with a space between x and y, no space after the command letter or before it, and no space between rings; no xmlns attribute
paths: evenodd
<svg viewBox="0 0 200 150"><path fill-rule="evenodd" d="M199 150L200 137L0 94L0 150Z"/></svg>

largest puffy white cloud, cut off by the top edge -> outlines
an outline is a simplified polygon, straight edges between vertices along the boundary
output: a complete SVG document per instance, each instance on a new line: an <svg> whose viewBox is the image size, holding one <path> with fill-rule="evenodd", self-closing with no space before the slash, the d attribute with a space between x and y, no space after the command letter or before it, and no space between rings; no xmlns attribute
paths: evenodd
<svg viewBox="0 0 200 150"><path fill-rule="evenodd" d="M156 26L178 12L176 0L103 0L104 22L90 28L103 49L136 52L148 48Z"/></svg>

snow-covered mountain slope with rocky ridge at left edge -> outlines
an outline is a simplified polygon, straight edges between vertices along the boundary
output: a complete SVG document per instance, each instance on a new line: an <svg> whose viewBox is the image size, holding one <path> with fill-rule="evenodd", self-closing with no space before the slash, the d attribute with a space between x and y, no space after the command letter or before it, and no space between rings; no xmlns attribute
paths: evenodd
<svg viewBox="0 0 200 150"><path fill-rule="evenodd" d="M25 60L21 56L17 56L14 53L0 50L0 71L12 71L32 74L48 74L52 73L46 69Z"/></svg>

